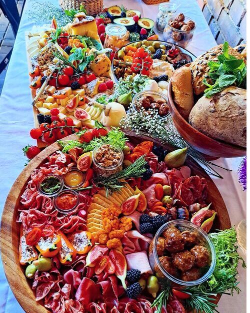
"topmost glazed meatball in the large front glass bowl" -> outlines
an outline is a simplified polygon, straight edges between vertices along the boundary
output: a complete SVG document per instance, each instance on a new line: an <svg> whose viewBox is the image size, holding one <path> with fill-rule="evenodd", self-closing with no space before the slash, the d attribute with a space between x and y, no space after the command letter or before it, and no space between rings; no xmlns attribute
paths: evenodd
<svg viewBox="0 0 250 313"><path fill-rule="evenodd" d="M180 231L175 227L169 227L163 232L165 237L164 247L168 252L179 252L184 249L185 241Z"/></svg>

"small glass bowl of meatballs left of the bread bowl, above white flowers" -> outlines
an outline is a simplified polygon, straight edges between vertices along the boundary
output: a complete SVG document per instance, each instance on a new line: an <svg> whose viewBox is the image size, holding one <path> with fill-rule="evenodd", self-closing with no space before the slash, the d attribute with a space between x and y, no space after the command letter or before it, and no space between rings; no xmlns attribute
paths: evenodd
<svg viewBox="0 0 250 313"><path fill-rule="evenodd" d="M155 110L161 119L169 115L167 97L156 91L141 91L133 97L132 108L137 111L153 112Z"/></svg>

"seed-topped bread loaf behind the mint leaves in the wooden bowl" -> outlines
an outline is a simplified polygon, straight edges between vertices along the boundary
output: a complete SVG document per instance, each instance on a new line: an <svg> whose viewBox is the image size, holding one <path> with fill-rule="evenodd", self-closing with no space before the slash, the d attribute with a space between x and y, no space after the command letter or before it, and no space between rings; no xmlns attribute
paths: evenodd
<svg viewBox="0 0 250 313"><path fill-rule="evenodd" d="M213 84L208 76L209 67L207 64L209 61L218 61L218 56L222 54L222 48L223 45L213 47L191 63L190 70L192 74L192 85L195 95L200 95L207 88L202 83L204 78L207 80L208 84ZM228 53L229 55L234 56L236 59L245 59L242 54L239 54L231 47L228 48Z"/></svg>

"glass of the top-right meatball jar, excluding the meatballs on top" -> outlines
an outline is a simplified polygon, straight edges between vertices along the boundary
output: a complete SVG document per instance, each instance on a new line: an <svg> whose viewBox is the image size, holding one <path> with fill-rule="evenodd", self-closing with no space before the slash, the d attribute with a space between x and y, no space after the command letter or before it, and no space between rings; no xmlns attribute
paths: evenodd
<svg viewBox="0 0 250 313"><path fill-rule="evenodd" d="M181 30L177 30L173 27L170 26L170 23L173 21L173 19L175 18L175 16L171 16L168 18L164 32L163 32L163 38L164 41L167 41L169 43L173 43L175 45L178 45L182 48L187 47L193 37L193 33L195 31L196 28L196 24L194 25L194 28L190 31L181 31ZM192 21L191 19L189 19L188 17L185 17L185 23Z"/></svg>

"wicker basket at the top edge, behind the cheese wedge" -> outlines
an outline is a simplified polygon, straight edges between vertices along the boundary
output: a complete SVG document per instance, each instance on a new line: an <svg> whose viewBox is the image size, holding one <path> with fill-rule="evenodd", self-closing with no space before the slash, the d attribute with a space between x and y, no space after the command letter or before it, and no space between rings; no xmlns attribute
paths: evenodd
<svg viewBox="0 0 250 313"><path fill-rule="evenodd" d="M59 0L59 5L63 10L79 10L82 5L88 15L97 15L103 9L103 0Z"/></svg>

